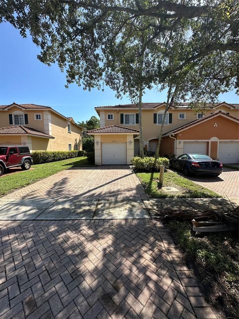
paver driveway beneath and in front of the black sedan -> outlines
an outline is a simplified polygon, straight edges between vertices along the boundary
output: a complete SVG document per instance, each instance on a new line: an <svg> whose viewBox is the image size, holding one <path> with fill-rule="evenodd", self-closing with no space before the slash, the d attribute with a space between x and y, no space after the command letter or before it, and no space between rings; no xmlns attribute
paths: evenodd
<svg viewBox="0 0 239 319"><path fill-rule="evenodd" d="M239 171L224 167L219 176L190 176L195 183L209 188L222 196L239 196Z"/></svg>

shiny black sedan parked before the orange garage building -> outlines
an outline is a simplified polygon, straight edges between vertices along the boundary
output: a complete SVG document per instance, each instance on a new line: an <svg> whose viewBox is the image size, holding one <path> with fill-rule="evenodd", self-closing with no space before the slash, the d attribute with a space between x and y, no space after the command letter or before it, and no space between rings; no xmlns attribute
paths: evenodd
<svg viewBox="0 0 239 319"><path fill-rule="evenodd" d="M182 170L185 176L190 174L216 175L223 171L223 164L204 154L183 154L169 161L169 167Z"/></svg>

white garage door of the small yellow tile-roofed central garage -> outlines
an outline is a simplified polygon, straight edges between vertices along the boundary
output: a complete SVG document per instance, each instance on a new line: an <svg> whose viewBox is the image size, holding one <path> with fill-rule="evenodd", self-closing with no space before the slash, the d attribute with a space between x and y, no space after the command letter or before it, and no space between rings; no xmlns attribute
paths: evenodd
<svg viewBox="0 0 239 319"><path fill-rule="evenodd" d="M102 143L102 164L126 164L126 143Z"/></svg>

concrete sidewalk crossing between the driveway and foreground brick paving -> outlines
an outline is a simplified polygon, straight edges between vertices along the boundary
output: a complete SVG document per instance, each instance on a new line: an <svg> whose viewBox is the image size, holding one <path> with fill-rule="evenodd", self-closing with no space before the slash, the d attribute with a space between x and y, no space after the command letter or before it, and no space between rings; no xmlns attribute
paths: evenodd
<svg viewBox="0 0 239 319"><path fill-rule="evenodd" d="M239 206L238 198L0 198L0 220L145 219L157 210L219 210Z"/></svg>

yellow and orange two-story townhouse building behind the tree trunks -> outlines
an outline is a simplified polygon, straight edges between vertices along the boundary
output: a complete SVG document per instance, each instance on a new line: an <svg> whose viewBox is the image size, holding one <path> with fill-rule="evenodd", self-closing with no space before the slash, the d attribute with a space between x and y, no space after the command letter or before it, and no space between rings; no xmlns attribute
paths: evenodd
<svg viewBox="0 0 239 319"><path fill-rule="evenodd" d="M155 152L165 102L142 104L143 145ZM100 106L101 128L95 136L97 164L130 164L139 154L138 108L135 104ZM172 107L166 117L160 156L203 153L227 163L239 162L239 104L209 104L195 113L188 103Z"/></svg>

